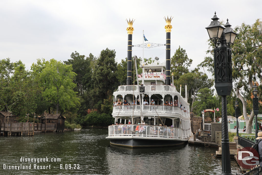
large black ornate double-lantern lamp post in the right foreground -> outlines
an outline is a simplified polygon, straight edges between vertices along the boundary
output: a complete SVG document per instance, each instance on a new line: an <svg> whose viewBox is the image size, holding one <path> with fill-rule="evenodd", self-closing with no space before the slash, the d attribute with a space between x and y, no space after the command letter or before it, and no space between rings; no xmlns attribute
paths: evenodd
<svg viewBox="0 0 262 175"><path fill-rule="evenodd" d="M222 174L232 174L229 152L226 96L230 95L232 91L232 59L230 46L233 45L237 34L231 29L228 20L225 25L226 28L220 25L216 12L211 19L213 21L211 21L206 29L209 38L213 41L216 47L214 49L215 88L217 94L222 96Z"/></svg>

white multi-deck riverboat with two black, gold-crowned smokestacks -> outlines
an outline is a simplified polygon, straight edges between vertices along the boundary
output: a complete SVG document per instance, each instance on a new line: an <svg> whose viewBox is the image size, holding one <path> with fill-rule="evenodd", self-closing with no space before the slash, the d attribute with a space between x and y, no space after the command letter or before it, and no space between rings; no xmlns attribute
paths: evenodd
<svg viewBox="0 0 262 175"><path fill-rule="evenodd" d="M108 126L108 136L106 137L110 140L111 145L131 148L178 146L187 143L192 135L187 94L185 94L185 98L182 97L181 87L179 93L171 84L170 33L172 19L165 18L165 20L166 61L160 63L156 57L155 60L143 63L142 59L140 67L143 73L137 74L137 85L132 85L131 80L133 20L127 20L127 85L119 86L113 93L114 101L119 100L122 103L113 106L112 116L115 119L115 124ZM136 59L134 62L136 65ZM187 93L187 90L185 92ZM126 100L125 104L124 100ZM166 101L175 103L177 106L169 105L169 103L165 105ZM117 104L120 103L117 102ZM122 124L116 125L117 122Z"/></svg>

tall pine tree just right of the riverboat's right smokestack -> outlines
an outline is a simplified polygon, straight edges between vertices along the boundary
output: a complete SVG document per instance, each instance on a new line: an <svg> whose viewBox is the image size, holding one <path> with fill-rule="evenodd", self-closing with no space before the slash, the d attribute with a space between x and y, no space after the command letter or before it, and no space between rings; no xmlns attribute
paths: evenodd
<svg viewBox="0 0 262 175"><path fill-rule="evenodd" d="M192 61L192 59L188 58L185 50L179 46L171 58L171 71L174 73L174 79L178 80L181 75L188 73L188 67L192 64Z"/></svg>

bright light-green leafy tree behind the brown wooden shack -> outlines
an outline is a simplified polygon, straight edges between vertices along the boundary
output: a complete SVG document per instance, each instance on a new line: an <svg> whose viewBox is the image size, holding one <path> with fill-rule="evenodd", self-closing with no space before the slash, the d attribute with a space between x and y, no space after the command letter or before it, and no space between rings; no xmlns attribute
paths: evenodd
<svg viewBox="0 0 262 175"><path fill-rule="evenodd" d="M73 83L75 73L72 70L72 65L65 65L52 59L40 74L45 85L43 97L53 104L56 114L63 113L65 110L75 111L80 104L77 92L73 90L76 84Z"/></svg>

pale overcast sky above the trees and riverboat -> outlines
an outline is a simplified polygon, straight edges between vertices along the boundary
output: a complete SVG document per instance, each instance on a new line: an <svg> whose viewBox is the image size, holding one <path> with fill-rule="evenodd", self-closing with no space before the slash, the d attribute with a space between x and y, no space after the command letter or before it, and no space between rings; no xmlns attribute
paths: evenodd
<svg viewBox="0 0 262 175"><path fill-rule="evenodd" d="M0 59L21 60L28 70L38 58L68 60L72 52L98 57L114 49L116 61L127 57L127 22L133 18L133 45L142 33L151 43L165 44L165 20L172 19L171 56L179 45L193 60L203 61L208 49L205 29L216 11L234 28L261 18L261 1L0 1ZM145 57L165 61L165 46L145 49ZM133 47L142 57L142 48Z"/></svg>

